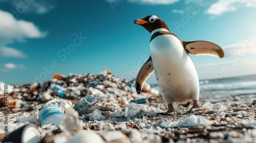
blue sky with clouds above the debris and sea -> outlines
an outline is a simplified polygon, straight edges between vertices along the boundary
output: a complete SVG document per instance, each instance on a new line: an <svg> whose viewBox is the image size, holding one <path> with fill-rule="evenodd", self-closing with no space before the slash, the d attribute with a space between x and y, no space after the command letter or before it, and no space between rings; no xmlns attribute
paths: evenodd
<svg viewBox="0 0 256 143"><path fill-rule="evenodd" d="M200 79L256 74L255 8L252 0L0 0L0 81L44 82L104 67L131 80L150 56L151 34L134 24L147 15L184 41L223 47L223 59L191 56Z"/></svg>

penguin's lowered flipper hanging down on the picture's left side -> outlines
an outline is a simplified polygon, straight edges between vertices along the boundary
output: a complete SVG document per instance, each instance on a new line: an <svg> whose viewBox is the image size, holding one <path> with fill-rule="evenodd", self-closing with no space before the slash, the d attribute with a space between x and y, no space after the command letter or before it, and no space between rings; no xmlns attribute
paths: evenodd
<svg viewBox="0 0 256 143"><path fill-rule="evenodd" d="M147 78L154 72L151 56L140 68L140 71L136 78L135 88L138 94L141 93L142 87L146 82Z"/></svg>

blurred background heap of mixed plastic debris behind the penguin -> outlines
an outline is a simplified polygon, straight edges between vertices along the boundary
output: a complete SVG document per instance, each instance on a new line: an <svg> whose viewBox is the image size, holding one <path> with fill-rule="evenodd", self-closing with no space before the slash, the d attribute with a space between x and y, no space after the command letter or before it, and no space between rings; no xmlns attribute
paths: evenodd
<svg viewBox="0 0 256 143"><path fill-rule="evenodd" d="M1 82L2 84L4 85L3 82ZM145 89L146 92L138 95L135 92L133 82L127 82L112 75L70 74L67 77L55 74L52 80L44 84L33 83L23 86L9 86L11 98L9 100L12 101L9 102L9 107L22 107L20 109L31 110L38 108L35 107L36 105L46 103L55 98L67 99L76 103L83 97L94 96L97 93L113 97L121 105L127 105L141 98L151 97L152 94L159 96L159 92L156 93L155 89L151 92L149 84L146 84L145 88L147 88ZM0 93L2 90L0 89ZM0 102L0 105L3 107L4 104Z"/></svg>

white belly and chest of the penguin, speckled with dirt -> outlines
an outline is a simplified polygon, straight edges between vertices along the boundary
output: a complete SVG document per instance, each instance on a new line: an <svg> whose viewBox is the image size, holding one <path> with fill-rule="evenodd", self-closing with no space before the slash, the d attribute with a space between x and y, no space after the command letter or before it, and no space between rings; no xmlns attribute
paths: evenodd
<svg viewBox="0 0 256 143"><path fill-rule="evenodd" d="M157 82L167 103L186 104L199 99L195 65L174 35L160 35L150 43Z"/></svg>

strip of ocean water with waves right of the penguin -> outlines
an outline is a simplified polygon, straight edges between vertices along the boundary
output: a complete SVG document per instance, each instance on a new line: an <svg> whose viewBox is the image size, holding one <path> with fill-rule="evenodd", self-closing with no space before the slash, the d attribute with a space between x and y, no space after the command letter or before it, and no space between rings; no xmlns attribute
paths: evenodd
<svg viewBox="0 0 256 143"><path fill-rule="evenodd" d="M253 94L256 93L256 75L223 79L201 80L200 94Z"/></svg>

